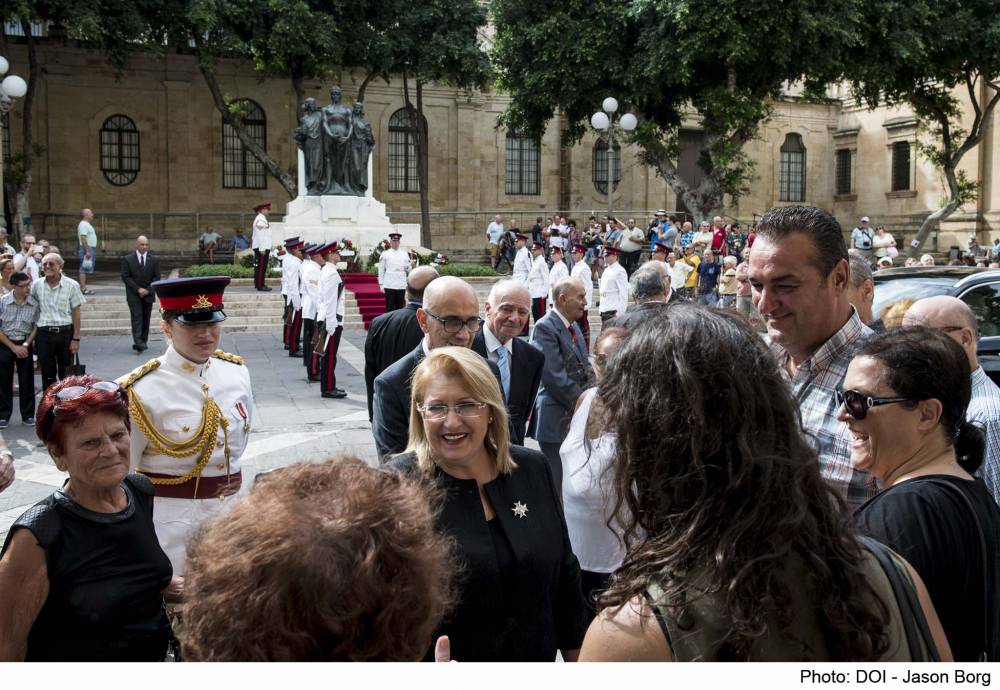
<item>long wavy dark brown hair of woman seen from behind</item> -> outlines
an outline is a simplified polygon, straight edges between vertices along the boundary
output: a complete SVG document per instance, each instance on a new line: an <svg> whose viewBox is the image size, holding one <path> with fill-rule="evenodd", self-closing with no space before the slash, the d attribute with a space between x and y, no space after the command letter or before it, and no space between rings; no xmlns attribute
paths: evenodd
<svg viewBox="0 0 1000 690"><path fill-rule="evenodd" d="M598 394L617 434L628 553L600 606L655 583L682 620L700 593L722 593L727 648L746 658L769 625L802 613L790 605L802 588L832 659L880 658L889 610L763 341L737 315L677 304L651 312L608 365Z"/></svg>

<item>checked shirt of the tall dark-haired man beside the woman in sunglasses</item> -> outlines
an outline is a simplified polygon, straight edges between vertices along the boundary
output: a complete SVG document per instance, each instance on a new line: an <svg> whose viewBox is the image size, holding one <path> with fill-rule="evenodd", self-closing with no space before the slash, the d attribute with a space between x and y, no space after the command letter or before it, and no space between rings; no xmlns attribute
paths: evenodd
<svg viewBox="0 0 1000 690"><path fill-rule="evenodd" d="M771 343L782 375L799 402L802 430L819 454L820 472L847 499L852 510L874 496L876 487L870 474L851 464L851 432L847 424L837 419L833 393L843 386L854 353L872 333L852 307L847 323L799 365L795 376L788 375L788 353L777 343Z"/></svg>

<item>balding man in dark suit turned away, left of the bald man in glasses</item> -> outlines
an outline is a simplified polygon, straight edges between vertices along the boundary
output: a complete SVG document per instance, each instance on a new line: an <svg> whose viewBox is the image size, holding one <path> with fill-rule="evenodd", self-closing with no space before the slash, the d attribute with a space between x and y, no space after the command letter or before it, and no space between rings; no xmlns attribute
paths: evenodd
<svg viewBox="0 0 1000 690"><path fill-rule="evenodd" d="M368 389L368 421L372 421L375 377L406 355L423 339L417 323L417 309L424 302L424 290L438 277L433 266L420 266L406 278L406 306L376 316L365 339L365 387Z"/></svg>

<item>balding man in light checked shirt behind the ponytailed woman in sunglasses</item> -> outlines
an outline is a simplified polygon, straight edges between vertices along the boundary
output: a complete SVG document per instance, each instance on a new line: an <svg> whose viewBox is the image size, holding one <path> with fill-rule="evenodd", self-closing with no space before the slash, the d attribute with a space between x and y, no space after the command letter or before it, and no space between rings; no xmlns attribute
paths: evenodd
<svg viewBox="0 0 1000 690"><path fill-rule="evenodd" d="M986 433L986 455L979 469L993 499L1000 501L1000 387L997 387L979 366L976 345L979 324L976 315L957 297L928 297L918 300L906 310L904 326L927 326L947 333L962 346L972 369L972 400L965 412L970 422Z"/></svg>

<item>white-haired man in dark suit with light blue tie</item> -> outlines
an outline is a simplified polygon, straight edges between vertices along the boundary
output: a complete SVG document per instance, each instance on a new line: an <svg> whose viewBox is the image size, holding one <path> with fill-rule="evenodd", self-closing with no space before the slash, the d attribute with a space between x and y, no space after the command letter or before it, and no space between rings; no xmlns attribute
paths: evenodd
<svg viewBox="0 0 1000 690"><path fill-rule="evenodd" d="M486 322L472 341L472 349L500 370L500 385L510 413L510 440L519 446L524 445L524 432L545 362L545 355L517 337L530 315L528 288L514 280L501 280L486 298Z"/></svg>

